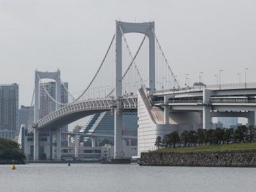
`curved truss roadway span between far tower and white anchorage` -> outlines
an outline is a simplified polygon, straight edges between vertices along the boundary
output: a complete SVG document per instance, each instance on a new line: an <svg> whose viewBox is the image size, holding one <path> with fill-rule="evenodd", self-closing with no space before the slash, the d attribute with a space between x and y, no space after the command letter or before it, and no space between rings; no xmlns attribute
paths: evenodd
<svg viewBox="0 0 256 192"><path fill-rule="evenodd" d="M118 108L125 112L136 111L137 97L128 96L120 98L117 101L108 98L76 102L60 108L38 120L32 127L28 127L28 131L33 132L33 128L58 129L63 125L75 122L84 116L93 115L102 111L109 111L111 108Z"/></svg>

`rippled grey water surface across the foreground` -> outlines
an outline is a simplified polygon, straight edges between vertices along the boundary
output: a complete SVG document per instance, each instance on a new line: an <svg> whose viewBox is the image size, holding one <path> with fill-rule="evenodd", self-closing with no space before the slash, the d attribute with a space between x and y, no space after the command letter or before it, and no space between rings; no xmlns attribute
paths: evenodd
<svg viewBox="0 0 256 192"><path fill-rule="evenodd" d="M256 191L256 168L0 165L0 191Z"/></svg>

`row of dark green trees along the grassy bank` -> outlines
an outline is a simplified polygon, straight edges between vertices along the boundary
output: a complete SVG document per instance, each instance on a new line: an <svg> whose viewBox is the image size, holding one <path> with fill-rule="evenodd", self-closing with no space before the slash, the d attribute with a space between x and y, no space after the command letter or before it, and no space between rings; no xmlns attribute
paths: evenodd
<svg viewBox="0 0 256 192"><path fill-rule="evenodd" d="M197 131L173 131L158 136L155 145L159 147L173 147L177 144L179 147L190 147L200 145L220 145L227 143L252 143L255 141L256 128L254 126L239 125L236 129L216 128L216 129L198 129Z"/></svg>

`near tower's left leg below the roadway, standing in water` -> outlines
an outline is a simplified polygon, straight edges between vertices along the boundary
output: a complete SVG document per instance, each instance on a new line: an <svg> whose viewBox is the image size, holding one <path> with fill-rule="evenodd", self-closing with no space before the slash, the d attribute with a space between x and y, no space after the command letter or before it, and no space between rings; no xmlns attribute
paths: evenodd
<svg viewBox="0 0 256 192"><path fill-rule="evenodd" d="M115 159L122 159L122 112L115 108Z"/></svg>

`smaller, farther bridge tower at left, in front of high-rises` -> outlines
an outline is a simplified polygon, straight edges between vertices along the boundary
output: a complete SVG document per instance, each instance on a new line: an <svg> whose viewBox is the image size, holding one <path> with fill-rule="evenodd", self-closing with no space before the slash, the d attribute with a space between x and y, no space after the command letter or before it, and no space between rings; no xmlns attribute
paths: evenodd
<svg viewBox="0 0 256 192"><path fill-rule="evenodd" d="M40 79L53 79L56 81L56 100L61 102L61 81L60 81L60 70L56 72L39 72L35 70L35 105L34 105L34 123L39 120L40 113L40 90L39 90L39 81ZM59 109L60 104L56 103L56 109ZM61 136L60 132L56 133L56 152L57 159L61 159ZM39 157L39 130L34 129L34 161L38 160Z"/></svg>

